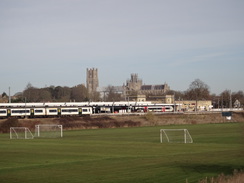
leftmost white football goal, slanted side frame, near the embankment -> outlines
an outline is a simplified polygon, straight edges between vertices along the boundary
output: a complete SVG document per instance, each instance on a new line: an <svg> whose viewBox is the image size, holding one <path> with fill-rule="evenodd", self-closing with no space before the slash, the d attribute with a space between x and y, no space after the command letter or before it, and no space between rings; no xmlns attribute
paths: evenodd
<svg viewBox="0 0 244 183"><path fill-rule="evenodd" d="M10 139L33 139L29 128L26 127L10 127Z"/></svg>

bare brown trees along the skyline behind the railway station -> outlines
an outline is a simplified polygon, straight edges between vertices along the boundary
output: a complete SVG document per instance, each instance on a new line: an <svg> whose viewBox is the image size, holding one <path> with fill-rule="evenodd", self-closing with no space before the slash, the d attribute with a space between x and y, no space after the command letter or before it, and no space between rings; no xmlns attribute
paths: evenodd
<svg viewBox="0 0 244 183"><path fill-rule="evenodd" d="M15 96L12 102L86 102L86 101L123 101L126 97L122 93L117 93L113 86L106 87L107 90L102 95L98 92L89 93L85 85L80 84L74 87L49 86L45 88L37 88L28 83L25 90ZM133 95L140 94L134 91ZM149 99L153 94L147 94ZM157 94L158 95L158 94ZM210 94L209 86L195 79L190 83L186 91L170 90L160 95L174 95L175 100L211 100L214 108L232 108L243 107L244 93L243 91L231 92L224 90L220 95ZM4 92L2 97L7 97Z"/></svg>

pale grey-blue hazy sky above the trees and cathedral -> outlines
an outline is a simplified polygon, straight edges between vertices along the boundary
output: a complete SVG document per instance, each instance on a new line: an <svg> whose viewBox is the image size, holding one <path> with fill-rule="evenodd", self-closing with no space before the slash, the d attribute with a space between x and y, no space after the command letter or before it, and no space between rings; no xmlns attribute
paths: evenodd
<svg viewBox="0 0 244 183"><path fill-rule="evenodd" d="M0 94L86 83L244 91L243 0L0 0Z"/></svg>

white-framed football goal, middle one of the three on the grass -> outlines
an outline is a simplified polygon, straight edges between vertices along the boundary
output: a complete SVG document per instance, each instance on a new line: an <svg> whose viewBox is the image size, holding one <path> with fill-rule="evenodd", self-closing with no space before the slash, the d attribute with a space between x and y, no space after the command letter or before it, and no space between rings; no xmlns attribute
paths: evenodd
<svg viewBox="0 0 244 183"><path fill-rule="evenodd" d="M35 137L59 138L63 137L63 126L54 124L35 125Z"/></svg>

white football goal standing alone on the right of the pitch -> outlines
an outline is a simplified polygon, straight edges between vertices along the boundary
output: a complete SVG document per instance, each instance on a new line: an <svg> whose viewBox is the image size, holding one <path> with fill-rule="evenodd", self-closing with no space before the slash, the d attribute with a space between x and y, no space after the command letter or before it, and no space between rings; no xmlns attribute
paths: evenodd
<svg viewBox="0 0 244 183"><path fill-rule="evenodd" d="M160 142L193 143L187 129L160 129Z"/></svg>

